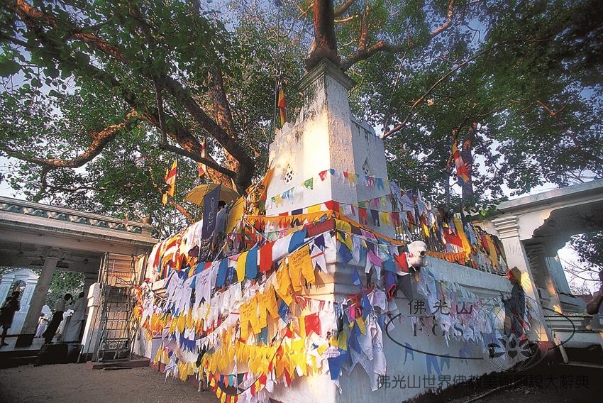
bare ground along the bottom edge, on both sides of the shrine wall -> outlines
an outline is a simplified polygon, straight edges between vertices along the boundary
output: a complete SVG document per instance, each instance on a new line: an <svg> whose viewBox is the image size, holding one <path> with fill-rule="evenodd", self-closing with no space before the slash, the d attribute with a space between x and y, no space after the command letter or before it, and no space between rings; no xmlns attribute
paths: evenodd
<svg viewBox="0 0 603 403"><path fill-rule="evenodd" d="M481 397L490 388L456 390L446 396L424 396L417 403L588 403L603 396L602 370L551 368L555 387L516 387L497 390ZM563 374L563 375L561 375ZM546 380L549 375L543 375ZM578 387L577 380L588 382ZM570 384L560 384L572 382ZM454 392L454 391L452 391ZM454 396L453 396L454 395ZM212 392L169 378L148 367L126 370L89 370L84 364L24 365L0 370L1 403L218 403Z"/></svg>

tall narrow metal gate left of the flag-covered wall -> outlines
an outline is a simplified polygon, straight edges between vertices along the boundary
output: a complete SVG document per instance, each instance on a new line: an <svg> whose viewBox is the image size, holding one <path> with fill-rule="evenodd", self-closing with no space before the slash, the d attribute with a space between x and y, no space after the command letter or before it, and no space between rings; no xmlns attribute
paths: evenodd
<svg viewBox="0 0 603 403"><path fill-rule="evenodd" d="M131 355L135 320L132 289L143 257L105 253L99 271L101 316L93 360L127 360Z"/></svg>

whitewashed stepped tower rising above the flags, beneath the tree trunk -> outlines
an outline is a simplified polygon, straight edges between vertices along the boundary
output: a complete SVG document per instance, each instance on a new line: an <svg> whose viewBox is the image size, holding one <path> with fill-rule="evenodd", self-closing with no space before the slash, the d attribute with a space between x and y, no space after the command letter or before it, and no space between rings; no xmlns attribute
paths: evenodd
<svg viewBox="0 0 603 403"><path fill-rule="evenodd" d="M270 144L270 166L275 173L267 188L267 216L309 211L338 201L345 206L344 214L358 221L359 203L389 194L383 140L366 123L353 118L348 100L352 86L353 81L328 60L319 62L299 82L302 108L295 122L286 123ZM361 175L358 183L348 182L343 172ZM365 177L380 178L383 187L366 185ZM302 186L310 179L314 180L311 189ZM385 206L367 207L392 211L389 197L385 199ZM354 212L349 207L352 204L357 206ZM391 222L374 226L372 218L368 219L378 232L395 236Z"/></svg>

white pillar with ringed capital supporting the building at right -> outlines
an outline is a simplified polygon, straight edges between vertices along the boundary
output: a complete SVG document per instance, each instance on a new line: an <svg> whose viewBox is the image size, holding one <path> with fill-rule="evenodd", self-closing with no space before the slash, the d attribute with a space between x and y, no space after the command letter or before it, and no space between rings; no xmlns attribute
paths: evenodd
<svg viewBox="0 0 603 403"><path fill-rule="evenodd" d="M524 244L519 239L519 217L503 216L493 219L492 223L496 226L500 241L502 242L509 269L517 267L521 271L521 286L524 288L526 297L531 300L532 304L536 305L533 308L538 314L540 325L537 326L538 329L531 330L531 335L533 336L535 333L538 333L540 341L550 341L551 336L549 335L551 333L548 331L548 326L544 319L545 311L541 307L541 299L538 297L528 255L526 254Z"/></svg>

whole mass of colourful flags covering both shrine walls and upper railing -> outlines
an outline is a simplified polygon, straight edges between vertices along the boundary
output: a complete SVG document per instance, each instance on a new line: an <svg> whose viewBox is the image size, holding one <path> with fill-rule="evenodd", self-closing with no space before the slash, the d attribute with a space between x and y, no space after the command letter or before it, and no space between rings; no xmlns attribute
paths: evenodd
<svg viewBox="0 0 603 403"><path fill-rule="evenodd" d="M153 361L164 365L166 377L205 380L221 402L267 402L275 385L290 387L299 377L327 375L341 388L343 374L358 364L377 390L378 375L387 372L389 318L400 318L396 326L416 323L416 316L399 311L397 292L426 302L427 325L440 326L446 341L487 346L484 335L496 332L483 315L492 309L480 309L480 297L437 279L428 267L417 272L409 238L388 238L370 226L414 228L431 257L491 272L506 269L497 239L382 178L325 170L298 186L315 189L329 175L387 194L279 216L249 214L263 197L249 199L238 215L228 207L218 212L214 243L223 244L215 258L201 254L201 222L154 246L145 282L135 290L134 316L147 341L160 338ZM280 201L294 197L294 188ZM335 301L315 298L336 270L349 275L356 291ZM407 294L405 281L416 283L416 293ZM450 316L435 311L434 296L463 309ZM450 331L451 324L468 322L471 332Z"/></svg>

